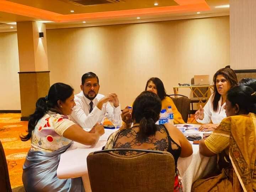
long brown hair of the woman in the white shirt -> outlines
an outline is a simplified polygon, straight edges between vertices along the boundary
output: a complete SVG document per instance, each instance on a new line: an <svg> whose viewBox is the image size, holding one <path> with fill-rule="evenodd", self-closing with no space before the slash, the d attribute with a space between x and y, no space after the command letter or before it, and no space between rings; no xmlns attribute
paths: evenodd
<svg viewBox="0 0 256 192"><path fill-rule="evenodd" d="M221 95L219 94L216 86L216 78L218 75L223 75L224 78L229 82L230 88L236 86L238 84L238 79L236 77L235 71L230 68L222 68L219 69L213 76L213 83L214 83L214 95L213 95L213 111L218 110L218 103L220 100Z"/></svg>

